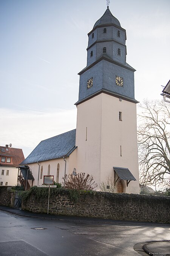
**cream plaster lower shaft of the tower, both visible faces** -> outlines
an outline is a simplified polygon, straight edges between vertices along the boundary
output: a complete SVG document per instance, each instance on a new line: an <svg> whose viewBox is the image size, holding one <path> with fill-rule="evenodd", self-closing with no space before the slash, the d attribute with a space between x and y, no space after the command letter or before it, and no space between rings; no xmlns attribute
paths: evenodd
<svg viewBox="0 0 170 256"><path fill-rule="evenodd" d="M108 175L114 177L113 166L128 168L137 181L131 181L124 192L139 193L136 104L105 93L79 104L76 146L77 172L93 175L99 185Z"/></svg>

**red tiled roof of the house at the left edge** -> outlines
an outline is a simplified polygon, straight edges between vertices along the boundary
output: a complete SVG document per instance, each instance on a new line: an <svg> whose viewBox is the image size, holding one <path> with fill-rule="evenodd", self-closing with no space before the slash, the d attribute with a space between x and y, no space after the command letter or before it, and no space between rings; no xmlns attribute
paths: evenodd
<svg viewBox="0 0 170 256"><path fill-rule="evenodd" d="M5 152L2 152L2 148L5 149ZM0 156L9 156L12 158L12 164L0 162L0 166L4 167L17 167L25 159L22 149L9 147L8 150L6 150L4 146L0 146Z"/></svg>

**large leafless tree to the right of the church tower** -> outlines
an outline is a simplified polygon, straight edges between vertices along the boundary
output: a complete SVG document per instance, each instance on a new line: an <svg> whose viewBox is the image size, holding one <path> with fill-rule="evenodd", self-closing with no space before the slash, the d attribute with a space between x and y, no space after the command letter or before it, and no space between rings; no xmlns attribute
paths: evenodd
<svg viewBox="0 0 170 256"><path fill-rule="evenodd" d="M138 114L141 184L167 183L170 178L170 105L144 100Z"/></svg>

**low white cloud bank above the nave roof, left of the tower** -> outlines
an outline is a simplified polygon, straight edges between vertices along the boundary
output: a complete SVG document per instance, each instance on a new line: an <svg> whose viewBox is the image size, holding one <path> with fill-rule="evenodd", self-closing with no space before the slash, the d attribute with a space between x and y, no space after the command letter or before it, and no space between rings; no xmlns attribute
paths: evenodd
<svg viewBox="0 0 170 256"><path fill-rule="evenodd" d="M25 156L40 141L76 128L76 109L36 112L1 108L0 113L1 145L12 143L12 147L24 148Z"/></svg>

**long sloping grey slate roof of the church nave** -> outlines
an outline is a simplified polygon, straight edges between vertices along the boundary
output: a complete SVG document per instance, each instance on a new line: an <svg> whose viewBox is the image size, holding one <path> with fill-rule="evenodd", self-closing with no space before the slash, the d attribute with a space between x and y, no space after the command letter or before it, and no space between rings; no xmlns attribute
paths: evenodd
<svg viewBox="0 0 170 256"><path fill-rule="evenodd" d="M76 129L41 141L20 165L69 156L75 147Z"/></svg>

